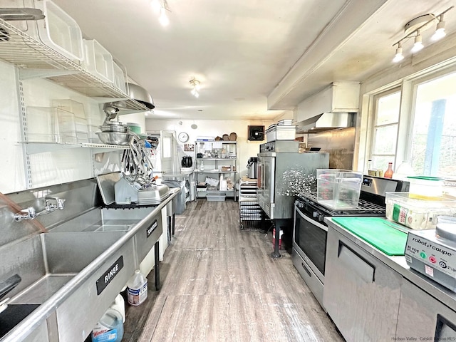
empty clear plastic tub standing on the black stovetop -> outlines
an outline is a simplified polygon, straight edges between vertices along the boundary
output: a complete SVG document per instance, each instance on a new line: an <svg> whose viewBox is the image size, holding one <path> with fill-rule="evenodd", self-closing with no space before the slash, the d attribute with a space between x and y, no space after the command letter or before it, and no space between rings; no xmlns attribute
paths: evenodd
<svg viewBox="0 0 456 342"><path fill-rule="evenodd" d="M317 169L318 203L332 209L358 207L363 172L343 169Z"/></svg>

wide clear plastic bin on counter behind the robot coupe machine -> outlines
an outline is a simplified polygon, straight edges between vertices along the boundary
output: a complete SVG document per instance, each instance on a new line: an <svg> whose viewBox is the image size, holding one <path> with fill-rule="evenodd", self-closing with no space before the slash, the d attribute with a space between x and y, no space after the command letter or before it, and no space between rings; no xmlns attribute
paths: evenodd
<svg viewBox="0 0 456 342"><path fill-rule="evenodd" d="M456 214L456 200L432 198L417 198L409 192L386 192L385 216L411 229L435 229L437 217Z"/></svg>

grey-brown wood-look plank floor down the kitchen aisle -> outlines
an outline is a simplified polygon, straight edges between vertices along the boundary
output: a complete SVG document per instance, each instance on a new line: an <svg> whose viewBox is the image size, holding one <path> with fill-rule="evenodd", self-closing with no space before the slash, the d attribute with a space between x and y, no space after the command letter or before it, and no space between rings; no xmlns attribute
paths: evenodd
<svg viewBox="0 0 456 342"><path fill-rule="evenodd" d="M191 202L176 215L145 303L127 307L122 341L343 341L271 234L239 229L239 203Z"/></svg>

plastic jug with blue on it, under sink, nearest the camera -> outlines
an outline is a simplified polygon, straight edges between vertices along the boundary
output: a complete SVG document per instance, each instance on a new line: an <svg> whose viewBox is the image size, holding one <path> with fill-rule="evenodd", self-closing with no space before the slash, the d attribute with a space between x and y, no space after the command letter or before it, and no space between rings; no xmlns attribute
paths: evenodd
<svg viewBox="0 0 456 342"><path fill-rule="evenodd" d="M119 311L109 308L93 328L92 342L120 342L123 338L123 321Z"/></svg>

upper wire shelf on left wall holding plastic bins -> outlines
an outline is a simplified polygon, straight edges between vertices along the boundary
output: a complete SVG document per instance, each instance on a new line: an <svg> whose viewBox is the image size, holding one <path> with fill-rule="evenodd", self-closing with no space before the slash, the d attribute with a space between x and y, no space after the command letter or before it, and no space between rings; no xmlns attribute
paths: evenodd
<svg viewBox="0 0 456 342"><path fill-rule="evenodd" d="M63 56L3 19L0 19L0 46L0 59L19 68L21 81L28 78L47 78L90 98L98 98L102 103L121 100L125 109L150 110L144 103L130 98L128 90L120 84L125 82L105 81L100 75L84 68L81 61L73 61Z"/></svg>

